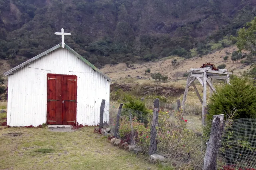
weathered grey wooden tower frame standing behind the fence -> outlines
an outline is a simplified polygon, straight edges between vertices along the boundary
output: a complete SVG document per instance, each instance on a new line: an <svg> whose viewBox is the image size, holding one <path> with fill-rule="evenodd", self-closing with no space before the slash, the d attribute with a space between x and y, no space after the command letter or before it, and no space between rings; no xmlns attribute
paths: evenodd
<svg viewBox="0 0 256 170"><path fill-rule="evenodd" d="M185 92L183 95L182 100L182 108L184 108L185 101L188 95L188 88L192 85L198 96L201 104L202 104L202 125L204 125L205 113L206 113L206 90L207 85L210 87L210 96L212 96L212 92L216 92L214 86L212 85L212 79L219 79L219 80L226 80L227 84L229 83L229 75L232 74L231 72L227 72L226 69L219 69L218 71L212 70L212 67L204 67L204 68L190 68L188 70L188 79L185 88ZM198 80L200 84L203 86L203 98L201 98L196 84L194 83L195 80Z"/></svg>

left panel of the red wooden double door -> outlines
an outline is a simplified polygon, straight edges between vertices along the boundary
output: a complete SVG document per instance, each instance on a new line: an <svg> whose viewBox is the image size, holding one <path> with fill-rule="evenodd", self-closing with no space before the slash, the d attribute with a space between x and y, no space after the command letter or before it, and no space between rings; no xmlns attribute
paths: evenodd
<svg viewBox="0 0 256 170"><path fill-rule="evenodd" d="M62 123L62 76L47 76L47 123L60 125Z"/></svg>

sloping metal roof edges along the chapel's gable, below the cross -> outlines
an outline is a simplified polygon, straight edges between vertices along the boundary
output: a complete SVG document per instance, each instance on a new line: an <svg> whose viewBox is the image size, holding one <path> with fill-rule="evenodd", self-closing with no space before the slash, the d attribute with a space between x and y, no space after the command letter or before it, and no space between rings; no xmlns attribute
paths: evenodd
<svg viewBox="0 0 256 170"><path fill-rule="evenodd" d="M3 75L4 76L8 76L9 74L12 74L14 71L26 66L27 64L35 61L36 59L39 59L40 57L43 57L44 55L47 55L48 53L60 48L62 46L62 43L52 47L51 49L48 49L46 51L44 51L43 53L41 53L40 55L37 55L36 57L33 57L32 59L29 59L28 61L12 68L11 70L5 72ZM68 47L68 45L65 44L65 48L70 51L71 53L73 53L74 55L76 55L76 57L78 57L79 59L81 59L82 61L84 61L84 63L88 64L90 67L92 67L92 69L94 69L95 71L97 71L98 73L100 73L102 76L104 76L107 80L111 81L111 79L106 76L106 74L104 74L103 72L101 72L96 66L94 66L92 63L90 63L89 61L87 61L86 59L84 59L84 57L82 57L81 55L79 55L78 53L76 53L76 51L74 51L73 49L71 49L70 47Z"/></svg>

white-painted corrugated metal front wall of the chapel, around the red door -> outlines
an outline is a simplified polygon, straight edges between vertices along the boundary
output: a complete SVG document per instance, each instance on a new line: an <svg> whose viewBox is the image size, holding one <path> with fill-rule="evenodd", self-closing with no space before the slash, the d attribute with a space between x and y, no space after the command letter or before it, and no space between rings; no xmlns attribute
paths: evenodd
<svg viewBox="0 0 256 170"><path fill-rule="evenodd" d="M102 99L109 104L110 82L67 49L56 49L8 76L7 125L46 123L47 73L77 76L77 122L97 125ZM109 121L109 112L104 118Z"/></svg>

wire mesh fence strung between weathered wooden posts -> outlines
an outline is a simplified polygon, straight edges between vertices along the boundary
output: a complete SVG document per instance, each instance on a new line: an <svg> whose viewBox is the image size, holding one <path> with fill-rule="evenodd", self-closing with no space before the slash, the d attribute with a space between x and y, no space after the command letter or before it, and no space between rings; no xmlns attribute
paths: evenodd
<svg viewBox="0 0 256 170"><path fill-rule="evenodd" d="M113 132L117 127L117 114L118 109L110 107L109 126ZM182 117L178 111L160 111L157 124L154 125L155 134L151 131L152 122L153 113L122 109L116 137L122 143L140 147L144 154L150 154L150 148L154 145L154 154L164 156L173 165L186 164L194 169L203 169L210 132L215 128L211 127L212 121L206 120L202 126L194 117ZM216 148L218 168L255 168L256 119L224 121L223 125L221 140ZM150 141L152 137L156 138L156 143Z"/></svg>

